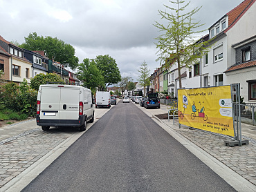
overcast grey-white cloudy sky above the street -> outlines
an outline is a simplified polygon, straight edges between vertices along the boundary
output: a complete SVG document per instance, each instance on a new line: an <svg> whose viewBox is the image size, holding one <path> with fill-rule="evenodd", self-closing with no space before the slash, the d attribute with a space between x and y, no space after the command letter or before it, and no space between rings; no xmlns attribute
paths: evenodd
<svg viewBox="0 0 256 192"><path fill-rule="evenodd" d="M192 0L187 10L203 6L194 19L208 29L242 1ZM154 45L160 33L153 24L164 23L158 15L163 4L171 5L168 0L0 0L0 35L19 44L30 32L57 37L75 48L80 62L110 55L122 77L136 81L143 61L152 73L160 66Z"/></svg>

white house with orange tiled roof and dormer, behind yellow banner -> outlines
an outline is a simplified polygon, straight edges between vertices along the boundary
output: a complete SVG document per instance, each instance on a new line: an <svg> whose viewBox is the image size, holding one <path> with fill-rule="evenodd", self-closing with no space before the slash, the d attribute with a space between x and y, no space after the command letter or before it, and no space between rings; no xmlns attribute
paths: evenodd
<svg viewBox="0 0 256 192"><path fill-rule="evenodd" d="M245 0L209 28L212 39L205 54L186 70L184 88L241 84L244 102L255 102L256 0ZM179 84L179 80L176 80Z"/></svg>

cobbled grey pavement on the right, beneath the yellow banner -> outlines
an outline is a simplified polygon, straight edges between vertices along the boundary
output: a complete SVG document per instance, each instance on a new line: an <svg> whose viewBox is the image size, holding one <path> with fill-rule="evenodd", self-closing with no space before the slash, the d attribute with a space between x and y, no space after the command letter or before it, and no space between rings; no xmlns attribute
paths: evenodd
<svg viewBox="0 0 256 192"><path fill-rule="evenodd" d="M138 106L138 105L137 105ZM158 119L155 115L167 113L168 106L162 105L157 109L145 109L138 106L147 115L152 115ZM241 124L242 138L248 140L248 145L243 146L226 146L224 141L232 140L231 137L226 135L220 135L216 133L210 133L208 131L202 131L199 129L190 129L186 126L179 128L179 120L175 119L158 119L171 129L183 135L188 140L202 148L204 151L215 157L217 160L226 164L230 169L256 185L256 126L250 124Z"/></svg>

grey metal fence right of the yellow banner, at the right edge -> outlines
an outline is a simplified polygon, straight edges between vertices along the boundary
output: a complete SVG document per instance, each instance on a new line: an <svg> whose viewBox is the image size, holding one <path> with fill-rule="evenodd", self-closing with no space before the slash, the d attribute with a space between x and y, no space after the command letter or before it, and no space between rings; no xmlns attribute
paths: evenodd
<svg viewBox="0 0 256 192"><path fill-rule="evenodd" d="M256 104L240 104L241 106L241 122L256 125ZM238 108L238 104L234 104L233 109ZM235 111L235 116L237 112Z"/></svg>

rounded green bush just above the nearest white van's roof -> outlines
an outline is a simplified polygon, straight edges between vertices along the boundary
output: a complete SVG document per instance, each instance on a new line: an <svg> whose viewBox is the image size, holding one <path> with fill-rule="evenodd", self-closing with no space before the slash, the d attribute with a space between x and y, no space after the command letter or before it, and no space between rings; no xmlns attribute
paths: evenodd
<svg viewBox="0 0 256 192"><path fill-rule="evenodd" d="M34 78L30 80L30 87L38 90L39 86L42 84L64 84L64 80L60 75L57 75L55 73L47 73L46 75L44 73L39 73L35 75Z"/></svg>

